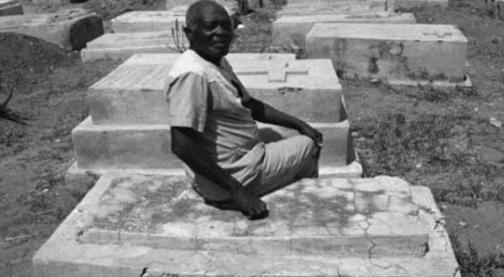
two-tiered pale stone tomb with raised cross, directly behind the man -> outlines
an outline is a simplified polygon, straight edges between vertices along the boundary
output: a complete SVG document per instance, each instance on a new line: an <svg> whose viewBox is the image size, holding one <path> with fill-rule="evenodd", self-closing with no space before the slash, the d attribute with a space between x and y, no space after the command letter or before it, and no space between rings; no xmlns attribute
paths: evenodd
<svg viewBox="0 0 504 277"><path fill-rule="evenodd" d="M134 55L89 88L91 117L72 132L77 165L68 179L86 170L170 170L181 162L170 150L165 93L177 54ZM330 60L294 60L293 54L229 54L229 62L251 95L299 116L324 134L323 172L359 176L341 86ZM303 103L303 105L299 105ZM260 125L265 141L296 134Z"/></svg>

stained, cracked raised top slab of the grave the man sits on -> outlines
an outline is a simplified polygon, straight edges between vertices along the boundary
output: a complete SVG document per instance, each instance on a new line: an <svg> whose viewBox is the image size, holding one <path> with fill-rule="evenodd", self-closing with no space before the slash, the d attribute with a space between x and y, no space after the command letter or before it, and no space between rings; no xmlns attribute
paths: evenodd
<svg viewBox="0 0 504 277"><path fill-rule="evenodd" d="M418 217L408 184L381 177L368 181L379 190L368 193L369 206L377 198L395 197L414 208L407 213L388 206L360 210L354 197L361 193L354 181L306 179L264 197L267 220L251 222L233 211L206 206L186 177L129 175L114 179L88 212L84 243L128 243L177 250L254 253L256 255L330 254L335 258L365 256L421 257L429 231ZM384 183L384 184L381 184Z"/></svg>

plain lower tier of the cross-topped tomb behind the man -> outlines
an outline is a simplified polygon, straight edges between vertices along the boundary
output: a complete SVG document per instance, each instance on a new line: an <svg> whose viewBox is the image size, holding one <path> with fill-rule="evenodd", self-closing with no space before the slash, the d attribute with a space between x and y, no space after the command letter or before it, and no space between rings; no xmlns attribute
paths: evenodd
<svg viewBox="0 0 504 277"><path fill-rule="evenodd" d="M345 166L348 159L348 120L340 123L310 123L324 136L320 163ZM277 141L298 132L259 123L264 141ZM182 162L172 153L168 125L96 125L88 117L72 131L75 159L79 168L175 169Z"/></svg>

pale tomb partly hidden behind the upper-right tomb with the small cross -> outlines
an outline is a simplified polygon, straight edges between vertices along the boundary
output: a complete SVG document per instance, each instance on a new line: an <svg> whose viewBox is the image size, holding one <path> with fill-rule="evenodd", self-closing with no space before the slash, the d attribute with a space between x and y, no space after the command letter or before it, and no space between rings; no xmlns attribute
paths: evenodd
<svg viewBox="0 0 504 277"><path fill-rule="evenodd" d="M305 47L305 37L316 23L415 24L413 13L371 12L368 14L282 16L273 22L273 45Z"/></svg>

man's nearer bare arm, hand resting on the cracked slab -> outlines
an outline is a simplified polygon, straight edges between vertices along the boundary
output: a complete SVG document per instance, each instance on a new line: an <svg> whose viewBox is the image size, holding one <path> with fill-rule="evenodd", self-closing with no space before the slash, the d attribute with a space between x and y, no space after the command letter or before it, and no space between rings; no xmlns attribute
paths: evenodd
<svg viewBox="0 0 504 277"><path fill-rule="evenodd" d="M197 143L197 131L190 127L172 127L172 152L177 155L192 170L210 179L215 184L231 193L233 201L230 205L241 211L250 220L258 220L268 215L266 204L255 195L246 195L242 184L225 170L208 161L209 154Z"/></svg>

